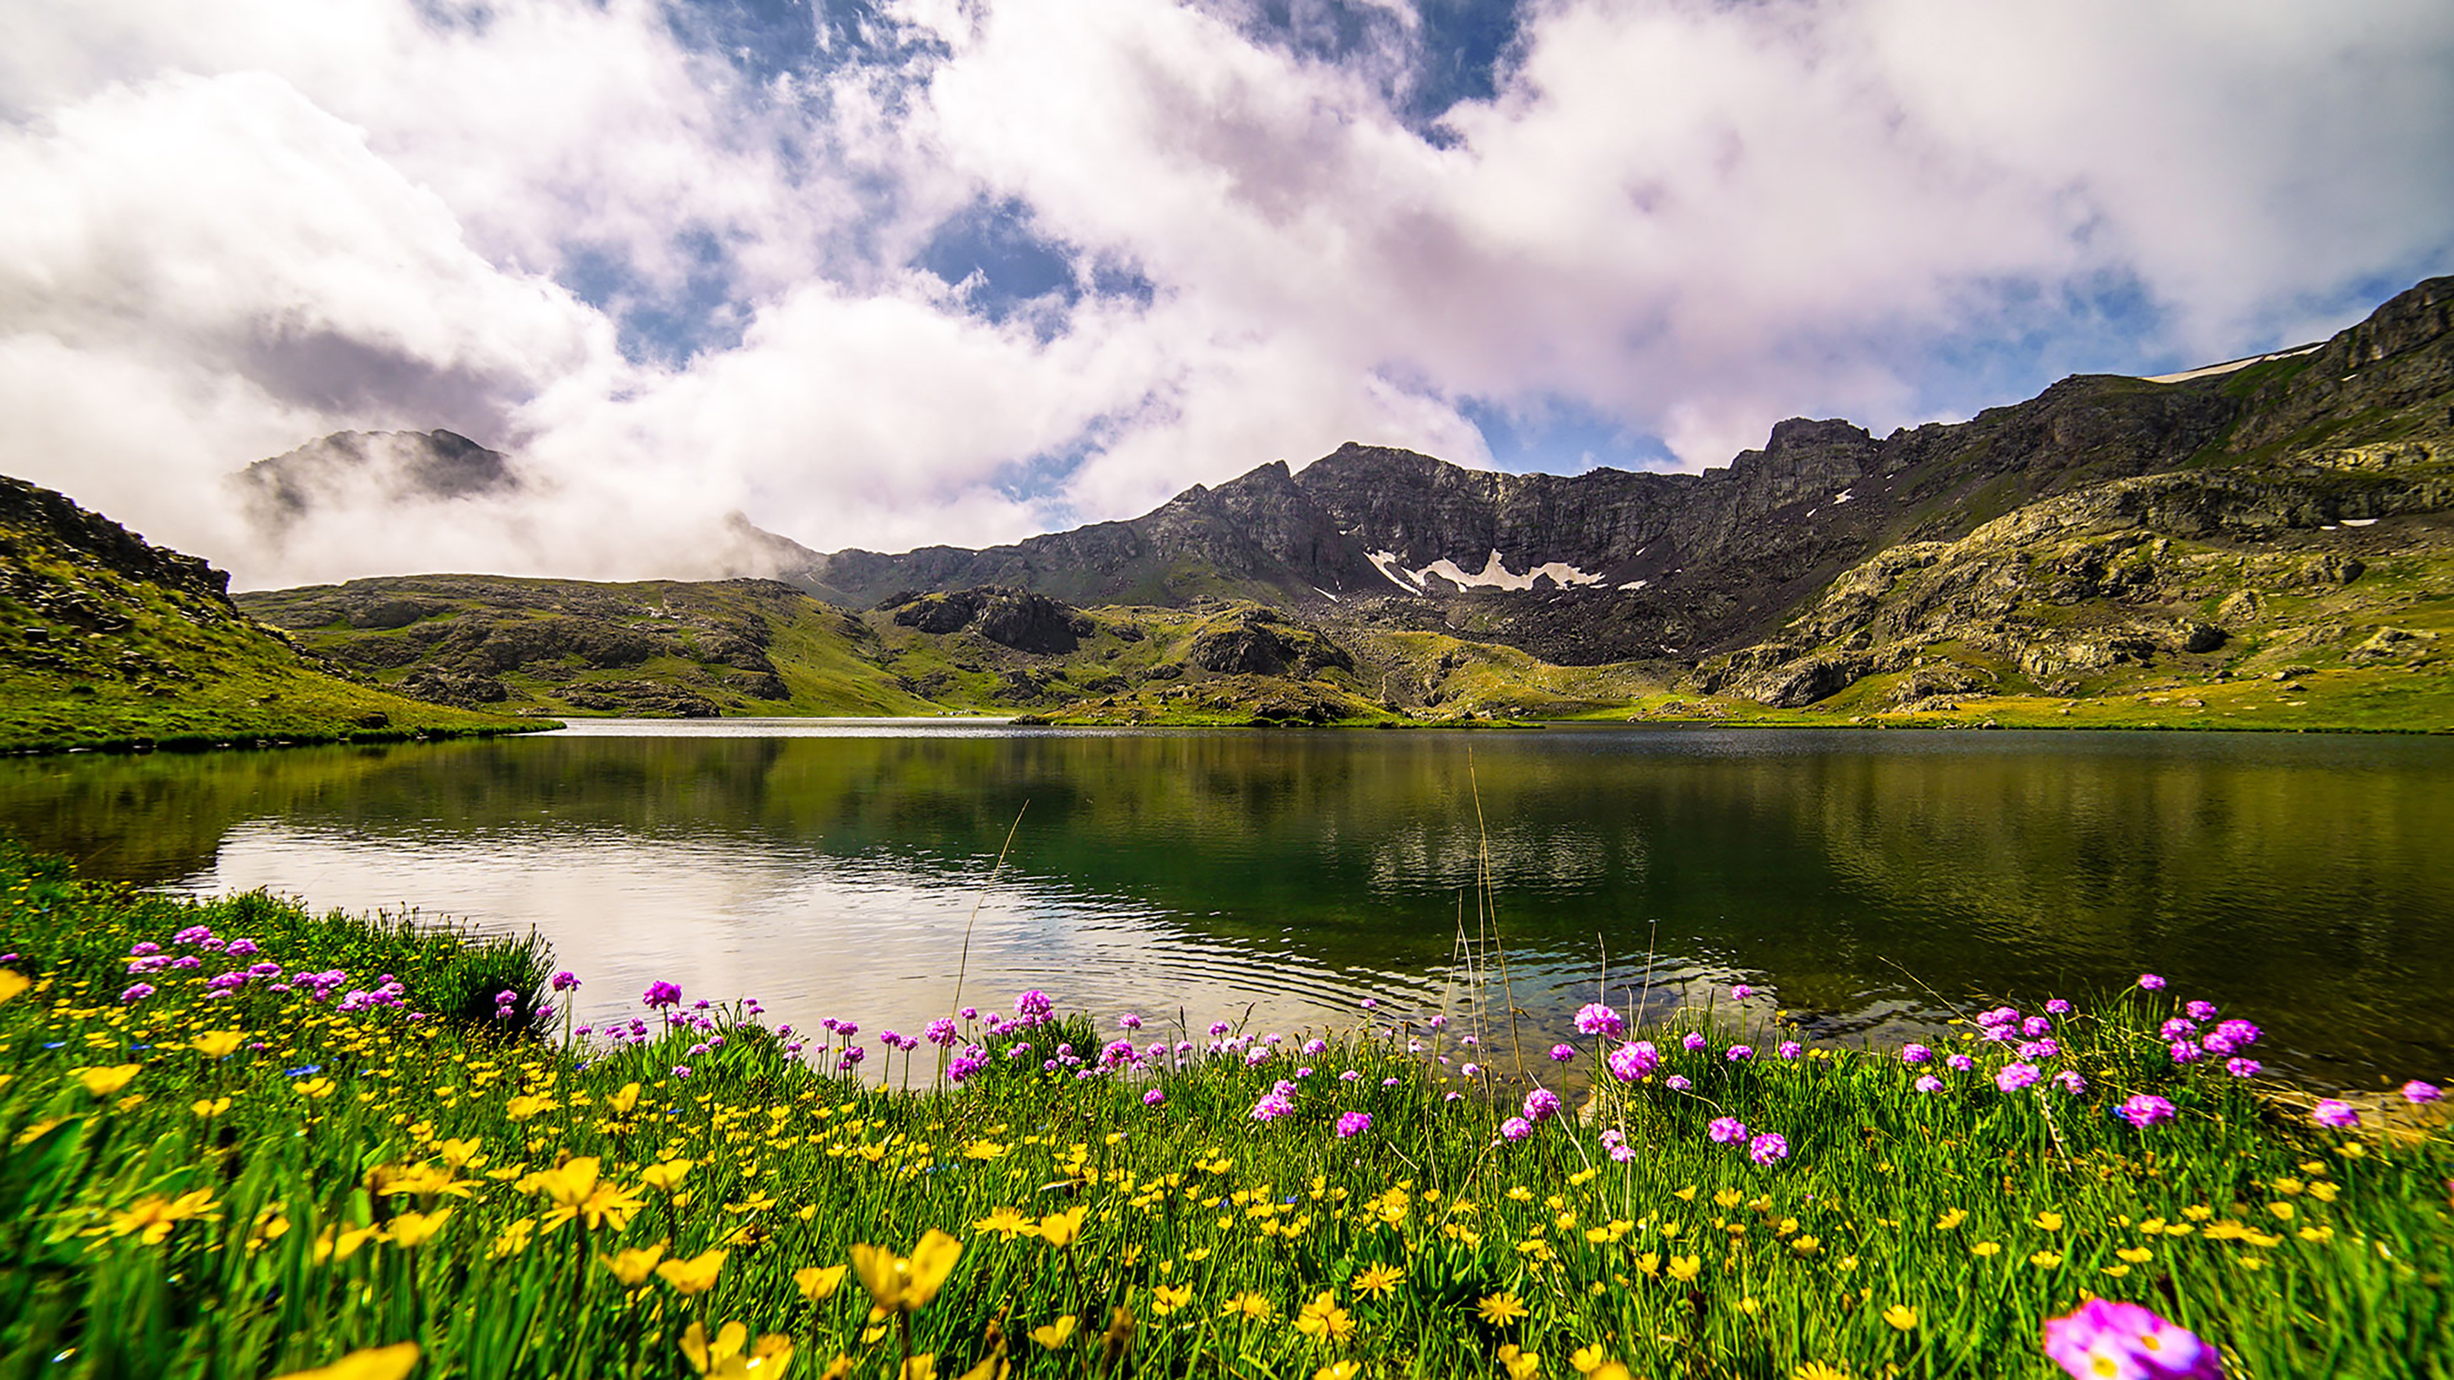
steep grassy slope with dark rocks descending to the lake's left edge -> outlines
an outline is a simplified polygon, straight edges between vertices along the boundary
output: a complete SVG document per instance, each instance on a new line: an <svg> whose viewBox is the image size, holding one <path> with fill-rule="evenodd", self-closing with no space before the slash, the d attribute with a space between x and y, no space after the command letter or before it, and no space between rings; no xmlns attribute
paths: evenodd
<svg viewBox="0 0 2454 1380"><path fill-rule="evenodd" d="M0 750L535 728L348 684L238 613L231 576L0 478Z"/></svg>

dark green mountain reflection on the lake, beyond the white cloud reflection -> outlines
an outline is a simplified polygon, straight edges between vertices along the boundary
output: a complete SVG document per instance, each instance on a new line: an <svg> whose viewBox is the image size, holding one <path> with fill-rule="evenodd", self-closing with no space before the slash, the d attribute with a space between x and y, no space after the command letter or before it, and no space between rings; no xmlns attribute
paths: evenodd
<svg viewBox="0 0 2454 1380"><path fill-rule="evenodd" d="M969 887L1028 802L1009 878L1040 904L1306 973L1428 980L1487 860L1544 1005L1605 951L1858 1015L2155 966L2304 1049L2425 1071L2454 1056L2449 767L2434 740L2216 735L537 738L22 760L0 809L140 882L265 821L714 841Z"/></svg>

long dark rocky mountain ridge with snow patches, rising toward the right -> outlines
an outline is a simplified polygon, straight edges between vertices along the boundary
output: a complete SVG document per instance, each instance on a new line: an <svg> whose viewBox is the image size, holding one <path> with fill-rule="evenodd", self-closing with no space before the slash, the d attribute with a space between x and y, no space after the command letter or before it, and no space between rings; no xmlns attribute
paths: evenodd
<svg viewBox="0 0 2454 1380"><path fill-rule="evenodd" d="M2285 576L2265 556L2344 576L2366 569L2361 552L2395 552L2434 588L2444 542L2417 517L2449 507L2449 473L2454 279L2439 277L2319 346L2164 380L2076 375L1882 439L1789 419L1764 449L1701 476L1504 476L1350 441L1303 471L1269 463L1195 485L1129 522L982 552L834 552L785 578L852 605L987 583L1075 603L1254 598L1553 664L1679 662L1696 689L1774 706L1956 642L1988 664L1936 684L2054 694L2083 689L2074 672L2201 654L2243 632L2243 647L2307 642L2290 620L2299 605L2272 598ZM2366 532L2388 517L2390 529ZM2199 574L2142 576L2140 556L2120 556L2130 537L2164 542L2147 561L2182 542L2172 559ZM2017 552L2047 539L2079 574L2012 578ZM2231 583L2206 574L2226 559ZM2113 566L2113 583L2088 574ZM2231 605L2228 630L2214 615L2241 591L2250 598ZM2317 613L2341 623L2346 610Z"/></svg>

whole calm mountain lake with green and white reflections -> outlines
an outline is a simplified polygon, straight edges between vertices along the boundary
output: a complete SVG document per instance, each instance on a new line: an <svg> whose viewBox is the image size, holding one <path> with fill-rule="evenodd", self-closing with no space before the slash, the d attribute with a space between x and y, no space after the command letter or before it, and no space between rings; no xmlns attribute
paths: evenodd
<svg viewBox="0 0 2454 1380"><path fill-rule="evenodd" d="M582 1020L667 978L910 1032L974 909L979 1005L1426 1012L1487 868L1544 1042L1605 973L1654 1005L1747 980L1855 1042L2152 968L2312 1081L2454 1071L2444 738L587 723L10 760L0 826L179 892L535 927Z"/></svg>

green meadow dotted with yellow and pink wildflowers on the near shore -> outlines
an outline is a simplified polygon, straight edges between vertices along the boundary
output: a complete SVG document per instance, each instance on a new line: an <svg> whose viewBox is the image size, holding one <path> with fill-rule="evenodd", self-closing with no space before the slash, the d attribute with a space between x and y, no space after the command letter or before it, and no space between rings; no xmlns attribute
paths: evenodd
<svg viewBox="0 0 2454 1380"><path fill-rule="evenodd" d="M1588 1007L1578 1113L1467 1076L1467 1010L1026 1000L888 1086L744 1007L557 1042L535 946L15 853L0 951L0 1375L2056 1375L2088 1297L2231 1375L2454 1375L2439 1108L2314 1125L2177 993L1921 1064Z"/></svg>

